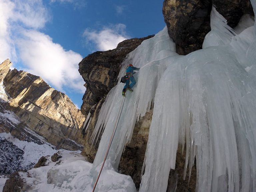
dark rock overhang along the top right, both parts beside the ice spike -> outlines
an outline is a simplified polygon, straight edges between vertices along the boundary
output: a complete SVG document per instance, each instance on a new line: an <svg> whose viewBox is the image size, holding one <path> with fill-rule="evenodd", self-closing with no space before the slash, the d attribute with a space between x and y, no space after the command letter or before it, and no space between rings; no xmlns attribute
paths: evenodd
<svg viewBox="0 0 256 192"><path fill-rule="evenodd" d="M163 15L177 53L186 55L202 48L210 31L212 5L234 27L243 14L254 15L250 0L164 0Z"/></svg>

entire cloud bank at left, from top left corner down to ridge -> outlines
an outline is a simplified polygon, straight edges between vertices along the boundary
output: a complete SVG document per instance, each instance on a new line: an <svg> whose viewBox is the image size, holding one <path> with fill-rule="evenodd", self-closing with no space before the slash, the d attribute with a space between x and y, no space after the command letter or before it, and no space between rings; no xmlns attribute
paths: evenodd
<svg viewBox="0 0 256 192"><path fill-rule="evenodd" d="M38 31L49 18L43 0L0 0L0 62L7 58L14 64L22 61L26 66L22 70L41 76L57 90L68 87L84 93L78 72L82 56Z"/></svg>

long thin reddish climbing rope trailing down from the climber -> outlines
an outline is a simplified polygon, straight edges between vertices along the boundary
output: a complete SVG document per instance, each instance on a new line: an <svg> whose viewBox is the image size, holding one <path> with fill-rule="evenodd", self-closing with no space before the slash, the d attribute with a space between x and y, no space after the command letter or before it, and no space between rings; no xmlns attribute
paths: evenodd
<svg viewBox="0 0 256 192"><path fill-rule="evenodd" d="M111 139L110 139L109 144L108 144L108 149L107 149L105 158L104 158L104 160L103 160L103 163L102 163L100 172L99 172L99 174L98 174L97 180L96 180L96 182L95 182L95 184L94 184L94 186L93 186L92 192L94 192L94 190L95 190L95 188L96 188L96 185L97 185L97 183L98 183L98 181L99 181L99 178L100 178L101 171L102 171L103 166L104 166L104 164L105 164L105 161L106 161L106 159L107 159L108 152L109 152L110 146L111 146L111 144L112 144L112 141L113 141L113 139L114 139L114 135L115 135L115 133L116 133L116 128L117 128L117 125L118 125L118 123L119 123L119 120L120 120L120 117L121 117L121 113L122 113L122 110L123 110L123 107L124 107L124 101L125 101L125 97L123 97L121 106L120 106L120 108L119 108L118 116L117 116L117 119L116 119L116 122L115 122L115 126L114 126L114 129L113 129L113 132L112 132L112 136L111 136ZM120 112L120 111L121 111L121 112ZM120 113L120 114L119 114L119 113Z"/></svg>

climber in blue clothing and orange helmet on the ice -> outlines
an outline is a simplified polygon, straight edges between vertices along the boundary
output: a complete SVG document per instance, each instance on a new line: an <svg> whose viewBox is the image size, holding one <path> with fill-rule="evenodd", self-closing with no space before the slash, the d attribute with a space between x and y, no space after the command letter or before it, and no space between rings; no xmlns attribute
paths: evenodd
<svg viewBox="0 0 256 192"><path fill-rule="evenodd" d="M132 64L129 64L127 69L126 69L126 75L125 75L125 85L122 91L122 95L125 96L125 92L128 89L129 91L133 91L132 87L136 84L136 81L133 77L133 74L136 72L133 72L133 70L139 71L140 68L133 67ZM130 84L131 81L131 84Z"/></svg>

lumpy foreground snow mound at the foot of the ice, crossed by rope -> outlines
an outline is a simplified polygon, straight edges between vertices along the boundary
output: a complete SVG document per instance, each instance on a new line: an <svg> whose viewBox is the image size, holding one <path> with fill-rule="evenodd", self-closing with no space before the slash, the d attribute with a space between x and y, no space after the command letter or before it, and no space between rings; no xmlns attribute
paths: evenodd
<svg viewBox="0 0 256 192"><path fill-rule="evenodd" d="M47 166L20 173L25 179L29 192L90 192L93 190L92 164L85 157L74 152L61 152L59 164L51 162ZM98 167L98 170L100 167ZM97 192L136 192L130 176L114 171L108 161L99 179Z"/></svg>

